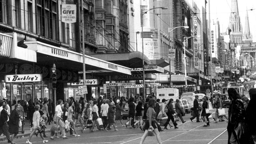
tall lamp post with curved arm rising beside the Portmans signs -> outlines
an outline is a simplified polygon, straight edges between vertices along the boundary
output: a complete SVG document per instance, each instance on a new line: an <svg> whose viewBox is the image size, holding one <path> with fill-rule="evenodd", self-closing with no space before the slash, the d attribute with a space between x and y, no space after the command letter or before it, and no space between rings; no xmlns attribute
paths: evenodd
<svg viewBox="0 0 256 144"><path fill-rule="evenodd" d="M154 7L152 9L168 9L168 8L167 7ZM145 89L145 70L144 70L143 15L152 9L144 9L144 10L146 10L144 13L143 13L143 9L141 9L142 70L143 70L143 98L144 98L144 100L146 100L146 89Z"/></svg>

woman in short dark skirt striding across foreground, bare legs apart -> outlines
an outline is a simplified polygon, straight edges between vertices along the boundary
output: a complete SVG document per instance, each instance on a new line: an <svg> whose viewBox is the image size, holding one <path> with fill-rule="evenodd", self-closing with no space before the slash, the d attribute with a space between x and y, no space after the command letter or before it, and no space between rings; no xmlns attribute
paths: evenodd
<svg viewBox="0 0 256 144"><path fill-rule="evenodd" d="M145 124L145 133L141 137L140 144L143 144L145 138L148 136L148 131L153 131L156 135L156 139L159 144L162 144L160 133L158 131L158 128L156 126L156 112L154 111L154 107L156 106L156 100L150 99L148 101L148 110L147 110L147 120Z"/></svg>

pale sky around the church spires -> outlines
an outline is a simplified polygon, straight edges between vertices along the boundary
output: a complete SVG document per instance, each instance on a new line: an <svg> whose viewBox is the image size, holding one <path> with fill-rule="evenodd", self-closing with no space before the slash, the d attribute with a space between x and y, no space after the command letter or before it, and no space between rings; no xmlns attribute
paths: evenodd
<svg viewBox="0 0 256 144"><path fill-rule="evenodd" d="M229 23L229 16L231 12L231 0L209 0L210 1L210 16L211 20L216 22L218 18L220 24L220 32L224 33ZM252 34L253 42L256 42L256 0L237 0L238 11L242 28L245 28L245 14L247 9L254 9L248 11L250 33Z"/></svg>

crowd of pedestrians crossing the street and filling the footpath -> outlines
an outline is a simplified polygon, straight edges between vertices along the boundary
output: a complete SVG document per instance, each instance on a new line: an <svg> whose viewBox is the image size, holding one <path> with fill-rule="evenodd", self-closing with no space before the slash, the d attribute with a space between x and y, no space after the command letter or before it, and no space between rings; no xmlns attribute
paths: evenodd
<svg viewBox="0 0 256 144"><path fill-rule="evenodd" d="M249 94L250 99L240 96L235 89L228 89L228 98L231 101L228 117L225 114L219 116L218 109L223 109L223 100L219 94L215 96L216 112L213 119L217 123L217 118L219 118L219 122L224 121L223 117L226 118L228 144L256 144L256 89L250 89ZM28 102L19 100L17 103L15 100L13 102L1 100L0 134L4 134L8 142L15 144L13 139L19 133L19 127L22 126L20 123L24 122L25 117L30 122L31 127L30 136L26 141L28 144L32 144L30 140L33 135L36 137L40 135L43 143L48 142L45 139L48 137L45 134L47 124L54 124L50 128L50 140L56 140L59 138L58 130L60 130L63 139L68 138L67 132L74 137L80 137L76 131L78 127L82 133L87 128L89 132L95 132L95 126L97 126L96 129L105 131L111 130L111 126L113 126L113 129L118 131L116 123L119 121L123 127L137 127L141 131L145 131L141 138L141 144L150 135L155 135L158 143L161 144L159 131L163 131L160 127L163 117L167 117L164 129L169 129L167 128L168 125L173 127L170 121L175 129L178 128L174 114L180 118L182 123L186 122L182 118L184 110L180 107L180 100L175 100L174 106L173 101L173 99L170 99L169 102L163 99L159 103L160 100L156 99L156 96L148 96L145 102L141 97L131 97L129 100L124 97L113 99L100 97L98 100L89 99L88 101L82 97L79 101L75 101L71 97L66 102L58 100L57 106L54 107L47 98L41 101L35 98L34 102L32 100ZM129 108L128 120L123 124L122 113L125 112L126 103L128 103ZM212 109L210 100L206 96L202 98L202 106L200 107L196 95L193 104L194 116L190 120L197 118L197 122L201 122L199 120L201 115L201 119L205 122L204 127L210 126L208 118L211 115L209 109ZM134 122L135 120L136 122Z"/></svg>

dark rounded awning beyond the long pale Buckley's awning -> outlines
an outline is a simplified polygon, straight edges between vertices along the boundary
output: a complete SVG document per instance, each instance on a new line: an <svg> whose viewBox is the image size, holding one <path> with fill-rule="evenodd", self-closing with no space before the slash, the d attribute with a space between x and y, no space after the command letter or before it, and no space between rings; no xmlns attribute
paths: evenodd
<svg viewBox="0 0 256 144"><path fill-rule="evenodd" d="M118 65L126 66L129 68L141 68L142 67L142 53L141 52L129 52L129 53L111 53L111 54L92 54L92 57L102 59L105 61L110 61ZM151 61L144 55L145 65L156 64L151 63Z"/></svg>

